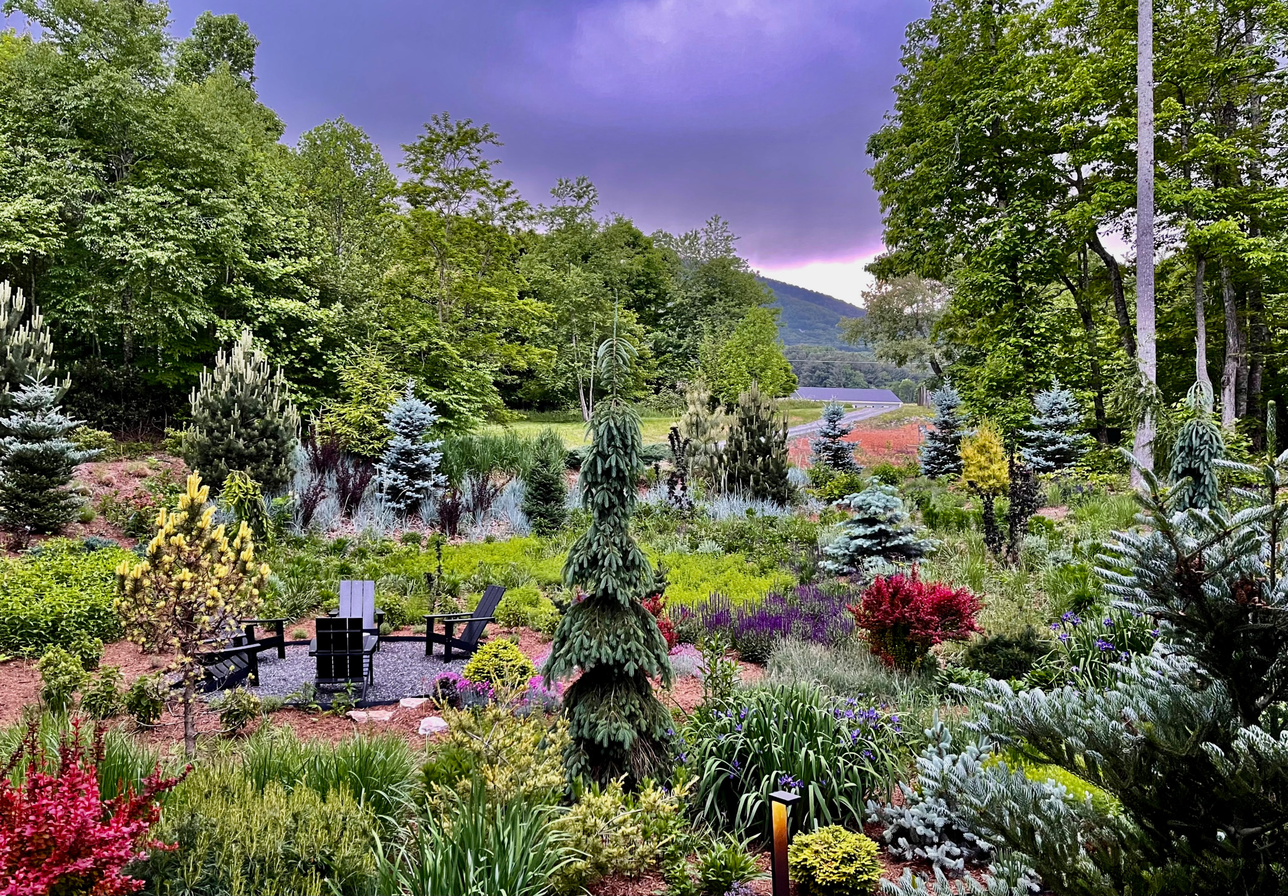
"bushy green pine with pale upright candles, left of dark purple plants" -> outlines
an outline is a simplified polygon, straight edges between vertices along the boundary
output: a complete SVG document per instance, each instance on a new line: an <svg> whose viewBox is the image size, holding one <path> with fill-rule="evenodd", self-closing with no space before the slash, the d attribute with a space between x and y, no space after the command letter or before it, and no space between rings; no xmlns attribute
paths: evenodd
<svg viewBox="0 0 1288 896"><path fill-rule="evenodd" d="M183 456L206 481L223 483L242 470L265 494L274 494L291 481L299 431L282 371L270 371L246 330L231 351L219 351L215 368L202 371L192 390L192 427Z"/></svg>

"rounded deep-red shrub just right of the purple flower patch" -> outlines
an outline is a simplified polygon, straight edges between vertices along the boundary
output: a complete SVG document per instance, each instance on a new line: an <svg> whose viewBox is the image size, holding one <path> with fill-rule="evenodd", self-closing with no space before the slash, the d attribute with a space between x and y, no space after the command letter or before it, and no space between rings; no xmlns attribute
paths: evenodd
<svg viewBox="0 0 1288 896"><path fill-rule="evenodd" d="M849 609L867 631L872 653L902 669L920 666L942 641L965 641L980 631L979 597L969 588L922 582L916 566L908 575L877 577Z"/></svg>

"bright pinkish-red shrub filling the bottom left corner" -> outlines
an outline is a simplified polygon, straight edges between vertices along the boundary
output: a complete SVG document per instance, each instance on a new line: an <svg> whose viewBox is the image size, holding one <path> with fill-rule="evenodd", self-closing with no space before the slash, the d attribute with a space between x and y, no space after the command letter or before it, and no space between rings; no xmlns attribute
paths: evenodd
<svg viewBox="0 0 1288 896"><path fill-rule="evenodd" d="M152 772L139 793L126 788L115 799L100 799L98 763L103 758L103 726L94 729L86 756L80 721L59 738L58 756L40 743L39 722L0 771L0 896L84 893L115 896L143 888L124 873L148 850L174 848L148 838L161 807L157 796L179 783ZM22 783L10 780L26 760Z"/></svg>

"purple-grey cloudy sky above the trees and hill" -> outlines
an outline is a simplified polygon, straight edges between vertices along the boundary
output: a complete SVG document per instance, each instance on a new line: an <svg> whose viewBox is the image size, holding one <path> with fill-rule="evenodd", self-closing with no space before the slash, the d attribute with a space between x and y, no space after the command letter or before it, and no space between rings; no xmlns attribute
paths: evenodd
<svg viewBox="0 0 1288 896"><path fill-rule="evenodd" d="M864 153L927 0L171 0L260 40L294 142L336 116L390 165L435 112L491 124L524 197L589 175L645 232L719 214L769 275L857 300L881 247Z"/></svg>

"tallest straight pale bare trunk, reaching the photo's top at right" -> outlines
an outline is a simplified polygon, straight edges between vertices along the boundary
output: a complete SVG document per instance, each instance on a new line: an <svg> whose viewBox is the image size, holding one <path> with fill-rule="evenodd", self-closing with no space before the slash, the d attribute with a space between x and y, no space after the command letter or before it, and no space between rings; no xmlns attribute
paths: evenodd
<svg viewBox="0 0 1288 896"><path fill-rule="evenodd" d="M1154 0L1136 4L1136 350L1141 376L1158 381L1154 355ZM1136 462L1154 469L1154 418L1136 425ZM1132 472L1133 479L1140 479Z"/></svg>

